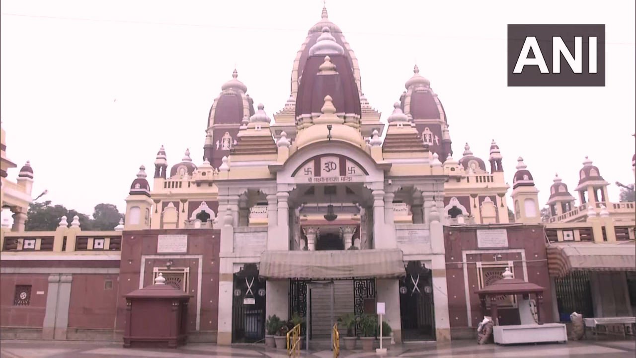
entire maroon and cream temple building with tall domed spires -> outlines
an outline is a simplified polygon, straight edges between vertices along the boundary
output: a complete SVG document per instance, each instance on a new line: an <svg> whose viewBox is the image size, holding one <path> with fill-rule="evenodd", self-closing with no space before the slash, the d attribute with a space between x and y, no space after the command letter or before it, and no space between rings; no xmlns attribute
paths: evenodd
<svg viewBox="0 0 636 358"><path fill-rule="evenodd" d="M534 303L499 297L503 324L569 317L563 287L579 275L572 271L614 270L627 292L635 256L614 245L633 248L634 206L608 201L609 183L589 159L575 189L581 204L557 176L545 223L530 173L537 164L529 169L519 157L510 222L505 150L492 140L472 143L490 144L487 161L469 143L453 153L444 107L417 66L380 120L326 8L291 55L289 97L273 118L235 69L212 102L202 158L156 143L154 171L142 165L131 178L125 222L113 231L82 231L77 218L62 217L56 231L21 232L32 170L27 163L18 184L4 179L15 164L4 155L3 131L3 205L18 218L17 232L0 231L0 285L15 292L1 296L3 338L121 341L130 323L125 295L159 276L191 297L188 341L219 345L263 342L273 315L298 315L310 341L329 342L338 317L375 314L377 303L385 303L397 343L473 338L483 319L476 292L504 273L544 290ZM172 155L181 159L170 162ZM570 238L607 245L619 264L576 266L568 252L546 250ZM591 314L604 317L609 308L594 295L600 308ZM632 312L623 297L610 314Z"/></svg>

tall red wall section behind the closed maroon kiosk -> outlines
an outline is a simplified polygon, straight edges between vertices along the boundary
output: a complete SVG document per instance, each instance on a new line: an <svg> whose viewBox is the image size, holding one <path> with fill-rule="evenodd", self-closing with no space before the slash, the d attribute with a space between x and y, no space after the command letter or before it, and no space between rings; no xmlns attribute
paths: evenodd
<svg viewBox="0 0 636 358"><path fill-rule="evenodd" d="M176 255L203 255L200 331L216 331L218 326L219 297L219 243L221 233L214 229L159 229L144 231L125 231L121 250L120 292L117 302L116 330L123 331L126 318L125 295L139 289L141 275L141 256L157 255L158 235L187 234L188 252ZM188 329L195 331L197 313L197 259L171 259L172 267L190 268L190 287L188 293L193 297L188 304ZM152 283L153 268L165 267L168 259L146 259L144 268L144 287Z"/></svg>

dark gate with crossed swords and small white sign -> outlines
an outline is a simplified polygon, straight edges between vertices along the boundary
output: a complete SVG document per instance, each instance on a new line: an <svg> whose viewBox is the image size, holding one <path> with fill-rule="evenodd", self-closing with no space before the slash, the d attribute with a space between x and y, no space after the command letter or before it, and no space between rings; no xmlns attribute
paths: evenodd
<svg viewBox="0 0 636 358"><path fill-rule="evenodd" d="M265 339L265 280L256 264L245 264L234 274L232 299L232 343L254 343Z"/></svg>

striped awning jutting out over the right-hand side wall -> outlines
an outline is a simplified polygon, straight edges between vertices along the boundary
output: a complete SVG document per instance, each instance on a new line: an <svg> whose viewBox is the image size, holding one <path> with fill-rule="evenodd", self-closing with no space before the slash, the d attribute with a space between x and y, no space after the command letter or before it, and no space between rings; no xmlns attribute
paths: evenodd
<svg viewBox="0 0 636 358"><path fill-rule="evenodd" d="M546 251L550 276L562 277L570 271L636 271L633 243L552 244Z"/></svg>

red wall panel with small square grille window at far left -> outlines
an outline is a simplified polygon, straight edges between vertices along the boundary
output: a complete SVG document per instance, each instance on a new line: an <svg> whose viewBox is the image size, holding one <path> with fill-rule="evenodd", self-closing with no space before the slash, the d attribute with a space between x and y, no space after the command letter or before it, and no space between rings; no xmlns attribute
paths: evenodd
<svg viewBox="0 0 636 358"><path fill-rule="evenodd" d="M13 306L16 285L31 285L29 306ZM44 294L37 294L43 291ZM48 274L0 275L0 326L42 327L46 311Z"/></svg>

